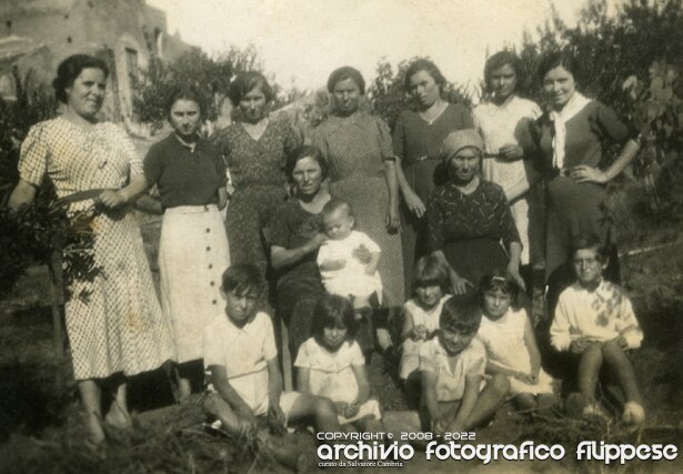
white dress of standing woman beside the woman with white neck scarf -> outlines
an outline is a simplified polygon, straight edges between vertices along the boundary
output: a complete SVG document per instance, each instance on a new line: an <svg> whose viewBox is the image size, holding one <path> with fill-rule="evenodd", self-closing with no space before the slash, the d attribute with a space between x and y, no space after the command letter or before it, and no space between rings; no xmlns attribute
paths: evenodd
<svg viewBox="0 0 683 474"><path fill-rule="evenodd" d="M533 145L530 133L531 123L541 117L541 108L535 102L511 95L501 105L484 102L475 107L472 118L476 130L484 139L485 152L498 154L500 148L509 143L519 144L522 148ZM529 186L528 167L531 167L531 163L524 160L506 161L499 158L485 158L482 162L482 175L486 181L503 188L503 191L508 193L519 183L525 183ZM536 249L541 245L542 220L530 219L530 213L538 211L539 204L532 199L532 194L526 192L510 206L522 239L521 261L523 265L530 262L532 245L534 256L538 254Z"/></svg>

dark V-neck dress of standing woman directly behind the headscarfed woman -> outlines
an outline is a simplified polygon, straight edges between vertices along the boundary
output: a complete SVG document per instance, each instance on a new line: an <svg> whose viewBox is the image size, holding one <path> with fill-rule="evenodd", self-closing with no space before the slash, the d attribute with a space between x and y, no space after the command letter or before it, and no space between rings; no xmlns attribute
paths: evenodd
<svg viewBox="0 0 683 474"><path fill-rule="evenodd" d="M401 159L408 184L425 205L432 190L449 178L448 170L441 164L443 139L451 132L473 127L470 111L455 103L449 103L432 122L412 110L404 110L399 115L393 129L393 150ZM426 253L426 219L418 219L405 205L401 206L401 216L405 293L410 294L415 261Z"/></svg>

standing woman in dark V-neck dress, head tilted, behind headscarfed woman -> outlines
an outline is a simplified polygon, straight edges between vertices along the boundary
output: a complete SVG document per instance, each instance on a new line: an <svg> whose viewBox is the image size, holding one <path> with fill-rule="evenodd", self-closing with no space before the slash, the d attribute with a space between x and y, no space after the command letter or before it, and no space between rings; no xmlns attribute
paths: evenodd
<svg viewBox="0 0 683 474"><path fill-rule="evenodd" d="M404 110L393 129L401 206L403 268L406 294L411 293L415 260L426 252L425 203L432 190L448 181L441 164L443 139L474 127L470 111L443 100L445 78L429 60L419 59L405 71L403 85L415 108Z"/></svg>

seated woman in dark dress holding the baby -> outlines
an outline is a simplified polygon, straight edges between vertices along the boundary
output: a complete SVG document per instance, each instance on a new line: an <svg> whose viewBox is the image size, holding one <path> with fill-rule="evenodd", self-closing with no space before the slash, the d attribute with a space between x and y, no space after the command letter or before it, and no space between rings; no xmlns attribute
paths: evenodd
<svg viewBox="0 0 683 474"><path fill-rule="evenodd" d="M313 306L325 294L315 258L327 239L320 213L331 198L322 185L328 163L317 148L295 149L285 162L285 172L294 196L277 210L264 234L277 271L275 310L290 326L290 351L295 357L311 333Z"/></svg>

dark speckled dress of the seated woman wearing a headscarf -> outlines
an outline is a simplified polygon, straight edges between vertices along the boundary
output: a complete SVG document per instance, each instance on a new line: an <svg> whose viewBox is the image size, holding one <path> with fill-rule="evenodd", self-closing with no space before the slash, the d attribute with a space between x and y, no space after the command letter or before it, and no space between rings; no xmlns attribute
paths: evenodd
<svg viewBox="0 0 683 474"><path fill-rule="evenodd" d="M426 216L430 250L443 251L453 270L473 285L493 270L505 269L506 249L520 242L503 190L489 181L482 180L471 194L452 182L436 188Z"/></svg>

